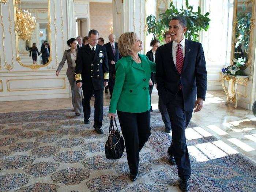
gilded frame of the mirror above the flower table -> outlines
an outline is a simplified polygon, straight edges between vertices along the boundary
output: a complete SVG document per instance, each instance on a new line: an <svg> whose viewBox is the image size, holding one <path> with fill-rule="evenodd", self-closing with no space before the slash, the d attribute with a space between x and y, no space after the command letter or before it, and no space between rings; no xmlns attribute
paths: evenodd
<svg viewBox="0 0 256 192"><path fill-rule="evenodd" d="M243 3L252 3L252 17L250 19L251 21L251 31L250 31L250 41L248 50L250 51L248 54L248 61L246 62L245 66L242 69L246 69L247 67L251 67L252 64L252 46L253 46L253 31L254 31L254 22L255 22L255 13L254 13L254 6L255 6L255 0L245 0ZM234 59L234 53L235 53L235 44L236 44L236 27L237 27L237 5L238 0L234 0L234 9L233 9L233 25L232 25L232 41L231 41L231 55L230 55L230 64L234 65L233 59Z"/></svg>

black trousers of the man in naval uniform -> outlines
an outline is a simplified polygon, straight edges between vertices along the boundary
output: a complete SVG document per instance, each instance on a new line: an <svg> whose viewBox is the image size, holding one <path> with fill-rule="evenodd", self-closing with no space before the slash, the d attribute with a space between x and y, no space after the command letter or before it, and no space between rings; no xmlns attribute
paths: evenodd
<svg viewBox="0 0 256 192"><path fill-rule="evenodd" d="M94 128L102 126L103 120L103 88L100 90L84 90L83 89L83 114L84 119L89 119L91 116L91 95L94 93Z"/></svg>

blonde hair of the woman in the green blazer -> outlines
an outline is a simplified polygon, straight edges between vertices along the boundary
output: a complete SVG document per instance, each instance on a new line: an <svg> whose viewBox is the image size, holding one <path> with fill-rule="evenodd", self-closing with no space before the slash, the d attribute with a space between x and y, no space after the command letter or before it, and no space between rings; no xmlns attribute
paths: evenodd
<svg viewBox="0 0 256 192"><path fill-rule="evenodd" d="M118 50L122 57L128 56L135 44L137 35L134 32L126 32L118 38Z"/></svg>

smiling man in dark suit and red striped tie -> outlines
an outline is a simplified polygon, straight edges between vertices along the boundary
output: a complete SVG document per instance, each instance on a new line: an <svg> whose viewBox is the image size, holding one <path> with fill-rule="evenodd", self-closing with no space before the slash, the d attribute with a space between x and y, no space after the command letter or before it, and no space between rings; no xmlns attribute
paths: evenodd
<svg viewBox="0 0 256 192"><path fill-rule="evenodd" d="M202 44L184 38L187 22L175 17L169 23L172 41L156 52L156 79L159 96L166 105L172 124L169 156L174 156L180 177L179 187L189 190L191 175L185 128L194 112L203 107L207 89L206 62Z"/></svg>

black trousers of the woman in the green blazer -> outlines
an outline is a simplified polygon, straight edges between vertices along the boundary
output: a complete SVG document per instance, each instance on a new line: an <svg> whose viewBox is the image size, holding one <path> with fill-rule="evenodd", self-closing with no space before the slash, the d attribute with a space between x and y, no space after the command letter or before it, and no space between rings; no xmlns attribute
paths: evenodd
<svg viewBox="0 0 256 192"><path fill-rule="evenodd" d="M117 115L124 136L130 173L136 176L139 168L139 152L150 136L150 110L144 113L117 111Z"/></svg>

